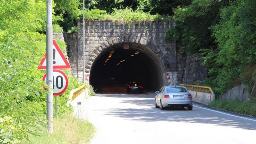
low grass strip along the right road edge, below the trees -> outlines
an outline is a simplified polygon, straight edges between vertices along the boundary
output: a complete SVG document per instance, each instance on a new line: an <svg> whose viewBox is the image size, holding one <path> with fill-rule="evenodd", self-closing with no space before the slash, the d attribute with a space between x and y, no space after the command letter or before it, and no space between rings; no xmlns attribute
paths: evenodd
<svg viewBox="0 0 256 144"><path fill-rule="evenodd" d="M228 110L235 113L256 116L256 101L250 100L247 102L240 102L239 100L226 101L217 99L208 105L209 107Z"/></svg>

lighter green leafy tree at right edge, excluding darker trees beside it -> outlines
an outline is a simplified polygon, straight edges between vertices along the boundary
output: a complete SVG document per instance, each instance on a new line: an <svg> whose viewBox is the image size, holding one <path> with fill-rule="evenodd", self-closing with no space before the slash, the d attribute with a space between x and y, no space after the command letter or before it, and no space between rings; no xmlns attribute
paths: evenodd
<svg viewBox="0 0 256 144"><path fill-rule="evenodd" d="M213 82L219 93L241 83L252 87L252 70L256 64L256 12L254 0L236 0L221 10L220 22L212 27L218 43ZM206 57L206 62L209 61ZM255 71L255 70L254 70ZM249 74L248 74L249 73Z"/></svg>

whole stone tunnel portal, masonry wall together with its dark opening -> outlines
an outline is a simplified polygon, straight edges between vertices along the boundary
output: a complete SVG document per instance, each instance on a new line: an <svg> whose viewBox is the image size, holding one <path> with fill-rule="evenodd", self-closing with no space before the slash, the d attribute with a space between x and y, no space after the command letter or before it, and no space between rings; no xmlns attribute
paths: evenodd
<svg viewBox="0 0 256 144"><path fill-rule="evenodd" d="M139 81L146 89L159 90L164 85L203 83L207 76L200 54L182 53L176 42L165 40L166 31L175 27L172 19L86 20L85 41L81 21L78 27L77 33L64 34L71 73L96 89Z"/></svg>

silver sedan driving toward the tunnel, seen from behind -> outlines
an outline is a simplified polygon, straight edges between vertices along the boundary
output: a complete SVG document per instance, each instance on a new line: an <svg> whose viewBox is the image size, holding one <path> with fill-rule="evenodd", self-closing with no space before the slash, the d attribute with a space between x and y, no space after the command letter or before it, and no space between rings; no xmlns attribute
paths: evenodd
<svg viewBox="0 0 256 144"><path fill-rule="evenodd" d="M165 110L166 107L187 107L193 109L192 96L184 86L164 86L155 92L155 107Z"/></svg>

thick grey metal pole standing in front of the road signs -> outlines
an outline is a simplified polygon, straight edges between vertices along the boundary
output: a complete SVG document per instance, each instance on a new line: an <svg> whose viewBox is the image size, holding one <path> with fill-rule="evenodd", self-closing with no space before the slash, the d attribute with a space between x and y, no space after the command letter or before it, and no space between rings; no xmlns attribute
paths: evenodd
<svg viewBox="0 0 256 144"><path fill-rule="evenodd" d="M52 32L52 0L47 0L47 25L46 25L46 83L47 88L47 104L46 117L48 132L53 133L53 32Z"/></svg>

